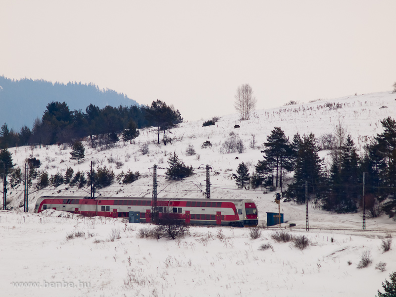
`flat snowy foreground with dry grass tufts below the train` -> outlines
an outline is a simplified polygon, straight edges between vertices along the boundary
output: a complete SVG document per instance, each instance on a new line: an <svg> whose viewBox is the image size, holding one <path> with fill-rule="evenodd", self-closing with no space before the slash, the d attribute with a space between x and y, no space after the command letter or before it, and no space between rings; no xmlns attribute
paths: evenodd
<svg viewBox="0 0 396 297"><path fill-rule="evenodd" d="M180 240L157 241L139 237L149 224L64 215L0 212L1 296L375 296L396 270L395 250L380 248L385 233L288 231L311 241L300 250L276 243L275 230L252 240L247 228L191 227ZM121 238L111 242L113 230ZM75 231L84 236L67 240ZM358 269L364 251L373 262ZM80 288L62 288L70 284Z"/></svg>

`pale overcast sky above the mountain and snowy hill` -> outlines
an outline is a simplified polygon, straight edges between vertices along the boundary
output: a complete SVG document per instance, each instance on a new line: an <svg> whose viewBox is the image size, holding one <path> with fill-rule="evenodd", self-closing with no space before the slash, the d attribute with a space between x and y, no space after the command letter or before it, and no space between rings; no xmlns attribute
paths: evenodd
<svg viewBox="0 0 396 297"><path fill-rule="evenodd" d="M185 120L396 82L395 0L1 0L0 75L93 82Z"/></svg>

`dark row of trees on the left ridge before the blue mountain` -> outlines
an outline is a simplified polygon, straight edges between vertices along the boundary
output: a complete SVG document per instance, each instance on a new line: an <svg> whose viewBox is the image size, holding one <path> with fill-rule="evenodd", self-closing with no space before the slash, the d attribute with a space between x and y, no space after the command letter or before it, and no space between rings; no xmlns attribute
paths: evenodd
<svg viewBox="0 0 396 297"><path fill-rule="evenodd" d="M15 132L4 123L0 129L0 148L71 144L86 137L90 140L101 138L110 143L118 141L119 134L125 141L131 141L138 136L136 129L148 126L157 128L158 143L160 134L166 142L165 132L182 121L179 110L161 100L153 101L150 106L107 105L99 108L90 104L85 111L71 111L66 102L52 101L47 104L42 118L34 121L32 129L23 126Z"/></svg>

